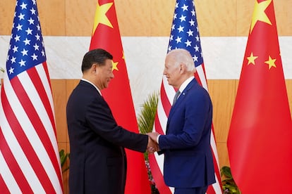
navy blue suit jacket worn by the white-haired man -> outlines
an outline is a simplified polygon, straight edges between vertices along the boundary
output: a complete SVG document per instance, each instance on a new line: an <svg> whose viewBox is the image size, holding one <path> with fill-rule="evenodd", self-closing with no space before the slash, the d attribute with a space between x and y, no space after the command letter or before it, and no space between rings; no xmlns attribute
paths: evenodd
<svg viewBox="0 0 292 194"><path fill-rule="evenodd" d="M193 79L169 112L166 135L159 137L168 186L193 188L215 182L211 125L209 94Z"/></svg>

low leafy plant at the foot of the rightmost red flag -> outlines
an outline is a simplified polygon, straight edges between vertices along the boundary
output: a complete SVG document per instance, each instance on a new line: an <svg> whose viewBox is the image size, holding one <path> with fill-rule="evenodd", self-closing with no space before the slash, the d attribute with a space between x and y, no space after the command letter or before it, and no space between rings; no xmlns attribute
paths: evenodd
<svg viewBox="0 0 292 194"><path fill-rule="evenodd" d="M224 190L224 193L241 194L241 191L238 189L238 186L233 180L230 167L226 167L226 166L222 167L220 169L220 174L221 174L221 182L222 182L222 188Z"/></svg>

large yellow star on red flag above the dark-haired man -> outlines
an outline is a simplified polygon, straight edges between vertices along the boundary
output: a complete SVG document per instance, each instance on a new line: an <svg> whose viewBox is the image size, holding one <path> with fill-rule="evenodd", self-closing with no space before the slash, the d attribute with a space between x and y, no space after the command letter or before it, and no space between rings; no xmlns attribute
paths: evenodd
<svg viewBox="0 0 292 194"><path fill-rule="evenodd" d="M109 18L107 18L107 11L109 11L109 8L113 3L103 4L102 6L99 6L99 3L97 1L97 9L95 10L95 22L93 25L92 34L95 33L95 30L97 29L97 25L104 24L111 28L113 28L113 25L111 25L111 22L109 21Z"/></svg>

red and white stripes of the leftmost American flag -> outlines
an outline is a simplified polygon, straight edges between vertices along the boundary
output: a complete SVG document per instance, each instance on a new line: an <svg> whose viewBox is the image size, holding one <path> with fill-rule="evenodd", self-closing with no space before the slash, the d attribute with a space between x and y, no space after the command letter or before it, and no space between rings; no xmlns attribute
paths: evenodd
<svg viewBox="0 0 292 194"><path fill-rule="evenodd" d="M9 80L0 104L0 193L63 193L47 64Z"/></svg>

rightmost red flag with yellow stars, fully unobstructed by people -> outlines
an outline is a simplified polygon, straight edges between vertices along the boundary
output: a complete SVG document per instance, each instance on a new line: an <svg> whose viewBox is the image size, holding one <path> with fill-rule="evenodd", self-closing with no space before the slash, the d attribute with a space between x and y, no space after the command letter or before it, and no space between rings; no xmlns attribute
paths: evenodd
<svg viewBox="0 0 292 194"><path fill-rule="evenodd" d="M292 193L291 140L274 4L257 0L227 141L242 193Z"/></svg>

